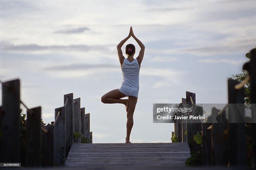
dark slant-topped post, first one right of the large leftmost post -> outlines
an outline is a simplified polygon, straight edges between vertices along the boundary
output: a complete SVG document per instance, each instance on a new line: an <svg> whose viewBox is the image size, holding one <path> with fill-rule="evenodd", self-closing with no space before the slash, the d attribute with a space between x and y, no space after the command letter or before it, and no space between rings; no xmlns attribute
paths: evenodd
<svg viewBox="0 0 256 170"><path fill-rule="evenodd" d="M30 109L33 114L27 111L26 129L26 167L41 165L41 107Z"/></svg>

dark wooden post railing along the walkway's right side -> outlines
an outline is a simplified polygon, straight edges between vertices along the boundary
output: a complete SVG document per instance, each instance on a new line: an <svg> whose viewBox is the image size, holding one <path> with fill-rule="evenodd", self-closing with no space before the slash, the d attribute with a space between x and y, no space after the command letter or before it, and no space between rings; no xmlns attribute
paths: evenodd
<svg viewBox="0 0 256 170"><path fill-rule="evenodd" d="M251 103L254 103L251 104L251 110L252 122L256 122L256 49L251 51L251 53L251 60L249 62ZM228 80L228 104L222 110L217 110L215 107L212 108L212 117L218 115L216 118L218 121L216 120L216 123L214 123L213 120L212 123L193 123L193 120L177 120L174 123L174 132L172 133L175 134L178 142L187 142L191 151L199 151L202 157L202 165L247 165L246 124L235 123L244 122L243 105L241 105L242 108L239 110L231 111L235 103L244 103L244 88L235 88L235 85L238 83L239 82L233 80ZM196 103L196 94L186 91L186 98L182 98L182 102L178 107L183 107L183 103ZM226 118L225 112L227 112L227 109L229 117ZM192 112L178 112L177 115L200 115L203 114L202 111L202 107L194 106ZM254 158L254 166L256 166L256 123L252 123L251 126L252 156ZM185 130L187 135L184 133ZM201 145L197 144L194 140L194 135L200 131L202 132Z"/></svg>

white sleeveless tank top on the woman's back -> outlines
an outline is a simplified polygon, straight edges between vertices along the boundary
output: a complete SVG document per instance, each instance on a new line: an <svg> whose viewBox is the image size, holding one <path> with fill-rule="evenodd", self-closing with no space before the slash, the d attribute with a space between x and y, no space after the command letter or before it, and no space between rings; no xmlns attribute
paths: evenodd
<svg viewBox="0 0 256 170"><path fill-rule="evenodd" d="M127 58L125 58L121 70L123 75L122 85L140 88L140 67L136 58L132 62L128 61Z"/></svg>

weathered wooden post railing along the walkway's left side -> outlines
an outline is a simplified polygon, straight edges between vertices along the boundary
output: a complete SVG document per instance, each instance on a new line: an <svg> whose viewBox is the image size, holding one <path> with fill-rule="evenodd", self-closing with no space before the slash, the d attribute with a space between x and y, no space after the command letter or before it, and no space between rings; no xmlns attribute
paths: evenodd
<svg viewBox="0 0 256 170"><path fill-rule="evenodd" d="M22 166L63 166L72 143L80 143L80 137L73 139L74 132L92 143L90 113L85 114L80 98L73 99L73 93L64 95L64 106L55 109L54 124L45 127L41 107L29 109L20 100L20 80L1 83L0 162L20 163L20 158L26 156ZM26 153L20 152L20 104L27 108Z"/></svg>

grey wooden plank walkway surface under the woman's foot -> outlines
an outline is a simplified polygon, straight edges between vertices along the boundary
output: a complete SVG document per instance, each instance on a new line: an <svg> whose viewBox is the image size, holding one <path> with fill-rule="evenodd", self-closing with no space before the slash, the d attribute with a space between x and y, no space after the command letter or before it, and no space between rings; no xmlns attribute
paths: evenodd
<svg viewBox="0 0 256 170"><path fill-rule="evenodd" d="M188 157L188 143L74 143L66 167L185 167Z"/></svg>

